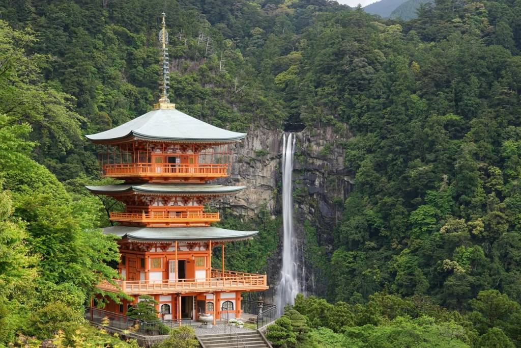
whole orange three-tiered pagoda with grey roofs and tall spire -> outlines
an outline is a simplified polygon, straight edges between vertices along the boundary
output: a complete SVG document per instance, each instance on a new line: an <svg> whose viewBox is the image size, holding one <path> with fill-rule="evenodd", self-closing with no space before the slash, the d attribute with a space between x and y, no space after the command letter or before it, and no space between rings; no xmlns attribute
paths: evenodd
<svg viewBox="0 0 521 348"><path fill-rule="evenodd" d="M164 14L163 14L164 15ZM113 129L87 136L104 146L103 175L125 181L87 186L96 195L125 203L125 212L110 213L117 225L105 234L119 236L121 279L98 287L133 297L122 304L109 301L106 310L126 314L140 295L159 303L164 319L193 319L202 313L220 319L241 314L241 293L268 289L265 274L225 269L224 245L251 239L257 231L220 229L211 224L218 212L204 204L244 187L207 182L230 175L229 146L246 134L221 129L178 111L167 98L167 34L163 17L162 96L154 110ZM222 264L212 268L212 250L221 247Z"/></svg>

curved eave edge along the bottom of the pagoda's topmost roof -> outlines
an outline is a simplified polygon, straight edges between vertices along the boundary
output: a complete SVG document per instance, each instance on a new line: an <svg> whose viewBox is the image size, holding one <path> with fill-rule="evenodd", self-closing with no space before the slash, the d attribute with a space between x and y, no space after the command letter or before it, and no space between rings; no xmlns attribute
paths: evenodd
<svg viewBox="0 0 521 348"><path fill-rule="evenodd" d="M134 140L148 140L148 141L157 141L157 142L178 142L178 143L205 143L205 144L227 144L238 142L246 137L246 133L241 133L237 137L233 138L165 138L165 137L154 137L146 134L139 134L135 131L131 131L126 136L117 137L117 138L105 138L105 139L96 139L92 136L95 134L85 135L87 139L90 141L101 144L101 145L110 145L116 143L124 143L131 142Z"/></svg>

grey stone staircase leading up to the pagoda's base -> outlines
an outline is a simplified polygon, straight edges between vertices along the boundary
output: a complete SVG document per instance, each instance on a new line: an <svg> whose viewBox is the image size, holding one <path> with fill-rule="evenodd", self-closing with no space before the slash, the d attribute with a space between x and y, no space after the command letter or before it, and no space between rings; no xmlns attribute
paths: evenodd
<svg viewBox="0 0 521 348"><path fill-rule="evenodd" d="M239 340L237 339L239 335ZM271 348L258 331L197 335L204 348Z"/></svg>

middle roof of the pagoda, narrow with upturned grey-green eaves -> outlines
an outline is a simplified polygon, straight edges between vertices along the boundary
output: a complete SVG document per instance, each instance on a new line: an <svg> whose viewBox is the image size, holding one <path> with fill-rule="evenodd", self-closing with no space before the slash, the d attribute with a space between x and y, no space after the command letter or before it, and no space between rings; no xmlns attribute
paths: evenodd
<svg viewBox="0 0 521 348"><path fill-rule="evenodd" d="M95 194L126 195L147 194L166 196L219 196L243 190L245 186L226 186L212 184L117 184L106 186L85 186Z"/></svg>

